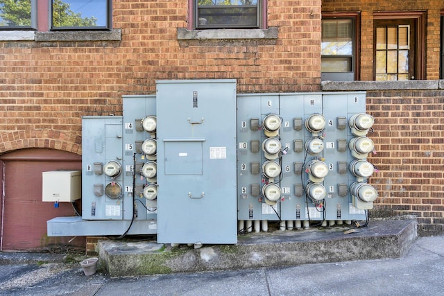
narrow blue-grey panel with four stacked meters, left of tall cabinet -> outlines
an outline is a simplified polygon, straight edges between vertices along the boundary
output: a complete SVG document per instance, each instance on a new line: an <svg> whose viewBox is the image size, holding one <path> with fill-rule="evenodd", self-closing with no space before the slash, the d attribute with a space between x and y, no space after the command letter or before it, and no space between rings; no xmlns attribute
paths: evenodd
<svg viewBox="0 0 444 296"><path fill-rule="evenodd" d="M155 96L123 96L123 195L133 203L124 219L157 218Z"/></svg>

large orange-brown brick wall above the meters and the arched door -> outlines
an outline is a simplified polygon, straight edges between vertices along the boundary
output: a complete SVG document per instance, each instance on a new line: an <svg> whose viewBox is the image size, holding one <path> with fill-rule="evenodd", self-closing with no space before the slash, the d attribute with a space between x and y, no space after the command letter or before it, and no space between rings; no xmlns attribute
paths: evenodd
<svg viewBox="0 0 444 296"><path fill-rule="evenodd" d="M268 1L264 40L177 39L188 1L113 3L119 41L0 41L0 153L81 153L80 118L121 114L124 94L154 94L155 80L236 78L239 93L319 90L321 0Z"/></svg>

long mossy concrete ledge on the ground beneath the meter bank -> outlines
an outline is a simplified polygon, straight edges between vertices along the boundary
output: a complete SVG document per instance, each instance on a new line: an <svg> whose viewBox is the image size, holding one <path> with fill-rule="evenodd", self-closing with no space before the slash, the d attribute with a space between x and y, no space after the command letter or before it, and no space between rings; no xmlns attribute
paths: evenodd
<svg viewBox="0 0 444 296"><path fill-rule="evenodd" d="M99 241L101 262L112 277L174 272L237 270L404 256L417 238L415 220L370 221L350 227L240 236L236 245L200 249L144 242Z"/></svg>

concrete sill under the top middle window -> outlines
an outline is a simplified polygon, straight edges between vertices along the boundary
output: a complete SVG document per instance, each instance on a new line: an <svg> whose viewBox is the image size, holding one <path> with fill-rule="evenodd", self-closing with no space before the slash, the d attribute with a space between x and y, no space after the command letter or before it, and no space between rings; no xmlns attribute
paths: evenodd
<svg viewBox="0 0 444 296"><path fill-rule="evenodd" d="M277 39L278 28L188 30L178 28L178 40Z"/></svg>

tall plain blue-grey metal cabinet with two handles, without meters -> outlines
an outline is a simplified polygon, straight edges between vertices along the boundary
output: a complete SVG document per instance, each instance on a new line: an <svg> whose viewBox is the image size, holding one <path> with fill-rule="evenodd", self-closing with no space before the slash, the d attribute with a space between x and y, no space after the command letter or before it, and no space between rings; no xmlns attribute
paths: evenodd
<svg viewBox="0 0 444 296"><path fill-rule="evenodd" d="M157 81L157 241L237 243L236 80Z"/></svg>

